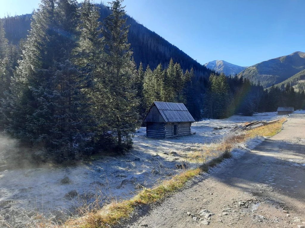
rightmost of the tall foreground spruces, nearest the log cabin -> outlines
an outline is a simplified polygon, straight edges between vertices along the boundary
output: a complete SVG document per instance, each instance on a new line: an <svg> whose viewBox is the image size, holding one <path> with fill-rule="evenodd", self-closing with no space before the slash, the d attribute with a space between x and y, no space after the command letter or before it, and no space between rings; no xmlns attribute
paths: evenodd
<svg viewBox="0 0 305 228"><path fill-rule="evenodd" d="M131 144L131 136L139 126L137 91L132 89L136 77L135 63L131 60L130 43L127 43L129 26L124 19L122 2L116 0L111 3L112 14L104 20L103 30L106 44L105 86L108 91L102 99L109 127L117 135L119 150L124 144Z"/></svg>

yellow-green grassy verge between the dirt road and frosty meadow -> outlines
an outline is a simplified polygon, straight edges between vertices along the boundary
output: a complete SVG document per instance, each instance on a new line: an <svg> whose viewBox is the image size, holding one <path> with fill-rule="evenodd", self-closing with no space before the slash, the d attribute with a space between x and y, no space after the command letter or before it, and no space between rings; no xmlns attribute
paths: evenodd
<svg viewBox="0 0 305 228"><path fill-rule="evenodd" d="M257 136L273 136L280 132L284 122L285 119L281 119L279 123L262 126L239 135L228 134L220 143L204 145L200 152L194 151L194 154L198 156L198 160L204 161L206 159L200 158L203 151L205 154L210 153L210 156L216 158L200 165L196 169L185 170L170 180L163 181L160 185L154 188L144 189L138 192L138 195L129 200L112 202L99 210L88 212L81 218L70 219L60 227L102 228L113 226L119 223L121 219L127 219L130 217L132 212L134 212L138 206L148 205L164 199L164 197L181 189L187 181L191 180L196 175L199 175L202 172L208 172L209 168L221 163L225 158L231 157L230 151L237 143L244 143ZM196 156L193 158L197 159Z"/></svg>

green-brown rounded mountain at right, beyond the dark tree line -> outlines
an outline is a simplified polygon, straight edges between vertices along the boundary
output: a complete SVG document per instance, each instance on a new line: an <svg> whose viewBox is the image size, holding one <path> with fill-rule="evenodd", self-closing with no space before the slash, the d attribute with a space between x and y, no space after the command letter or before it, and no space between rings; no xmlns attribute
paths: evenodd
<svg viewBox="0 0 305 228"><path fill-rule="evenodd" d="M290 55L255 64L240 72L238 75L239 77L249 78L254 83L260 81L261 85L267 88L272 84L285 81L304 69L305 53L296 51Z"/></svg>

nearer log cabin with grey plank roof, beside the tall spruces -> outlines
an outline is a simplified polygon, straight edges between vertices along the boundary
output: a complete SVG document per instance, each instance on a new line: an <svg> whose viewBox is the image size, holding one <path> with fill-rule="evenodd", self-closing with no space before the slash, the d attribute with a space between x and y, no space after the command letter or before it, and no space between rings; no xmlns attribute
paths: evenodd
<svg viewBox="0 0 305 228"><path fill-rule="evenodd" d="M192 134L195 120L182 103L154 101L143 122L147 137L168 138Z"/></svg>

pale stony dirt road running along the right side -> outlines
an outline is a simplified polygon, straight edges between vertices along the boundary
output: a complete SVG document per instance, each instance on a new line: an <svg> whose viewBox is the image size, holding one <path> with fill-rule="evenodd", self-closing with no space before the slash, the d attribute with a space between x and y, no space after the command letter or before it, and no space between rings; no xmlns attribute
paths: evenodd
<svg viewBox="0 0 305 228"><path fill-rule="evenodd" d="M305 227L305 115L127 226Z"/></svg>

